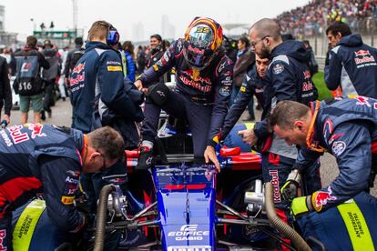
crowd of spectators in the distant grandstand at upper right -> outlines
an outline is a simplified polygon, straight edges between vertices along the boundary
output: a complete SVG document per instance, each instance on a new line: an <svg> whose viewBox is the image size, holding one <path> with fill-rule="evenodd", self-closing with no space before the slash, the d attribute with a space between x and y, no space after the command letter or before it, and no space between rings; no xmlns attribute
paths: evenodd
<svg viewBox="0 0 377 251"><path fill-rule="evenodd" d="M363 33L375 28L376 19L377 0L311 0L276 18L283 33L298 38L322 35L326 23L333 21L347 23L352 30Z"/></svg>

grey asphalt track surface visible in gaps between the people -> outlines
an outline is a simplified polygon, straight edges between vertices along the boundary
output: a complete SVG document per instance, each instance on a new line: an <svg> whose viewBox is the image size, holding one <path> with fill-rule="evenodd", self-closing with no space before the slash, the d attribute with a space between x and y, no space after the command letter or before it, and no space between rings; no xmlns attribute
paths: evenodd
<svg viewBox="0 0 377 251"><path fill-rule="evenodd" d="M44 124L54 124L56 126L71 126L72 106L69 99L65 102L59 100L56 105L52 107L52 117L46 118ZM242 119L246 117L246 112L239 119L239 123L242 123ZM256 111L257 119L260 118L260 112ZM33 118L33 112L29 112L29 118ZM29 121L32 121L29 119ZM11 125L20 124L20 112L18 110L12 111ZM330 184L330 182L339 174L339 169L336 164L335 158L329 154L321 156L321 180L322 186ZM377 179L376 179L377 180ZM374 181L374 187L371 189L371 194L377 196L377 182Z"/></svg>

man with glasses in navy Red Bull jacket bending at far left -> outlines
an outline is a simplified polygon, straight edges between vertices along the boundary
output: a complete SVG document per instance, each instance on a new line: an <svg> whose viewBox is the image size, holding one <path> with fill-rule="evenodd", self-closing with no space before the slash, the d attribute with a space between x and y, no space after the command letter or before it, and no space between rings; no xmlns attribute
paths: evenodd
<svg viewBox="0 0 377 251"><path fill-rule="evenodd" d="M74 206L80 173L106 170L124 156L122 137L108 126L83 135L66 127L25 124L0 135L0 250L12 250L12 211L38 193L59 229L79 231L86 223Z"/></svg>

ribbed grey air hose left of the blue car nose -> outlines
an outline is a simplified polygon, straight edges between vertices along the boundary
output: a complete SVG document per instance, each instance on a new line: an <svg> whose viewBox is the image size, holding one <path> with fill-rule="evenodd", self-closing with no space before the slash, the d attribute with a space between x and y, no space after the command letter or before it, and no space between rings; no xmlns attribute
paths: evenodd
<svg viewBox="0 0 377 251"><path fill-rule="evenodd" d="M99 194L94 251L102 251L104 249L107 222L107 200L108 196L114 190L114 186L107 185L101 189L101 193Z"/></svg>

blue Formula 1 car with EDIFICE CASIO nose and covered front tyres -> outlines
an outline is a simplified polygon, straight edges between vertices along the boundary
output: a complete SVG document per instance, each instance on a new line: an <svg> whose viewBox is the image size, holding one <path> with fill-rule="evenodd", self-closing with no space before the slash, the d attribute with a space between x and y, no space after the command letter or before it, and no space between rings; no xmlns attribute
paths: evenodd
<svg viewBox="0 0 377 251"><path fill-rule="evenodd" d="M118 250L279 250L282 246L374 250L377 246L374 197L362 193L342 208L290 218L287 225L274 209L272 186L260 180L260 154L219 146L218 173L213 165L194 159L186 124L166 119L158 132L153 168L136 171L138 150L127 151L127 189L103 187L96 226L87 230L95 233L87 250L104 250L107 236L115 232L121 236ZM237 132L230 136L238 139ZM76 247L77 236L52 225L45 207L36 200L17 210L14 246L83 250Z"/></svg>

